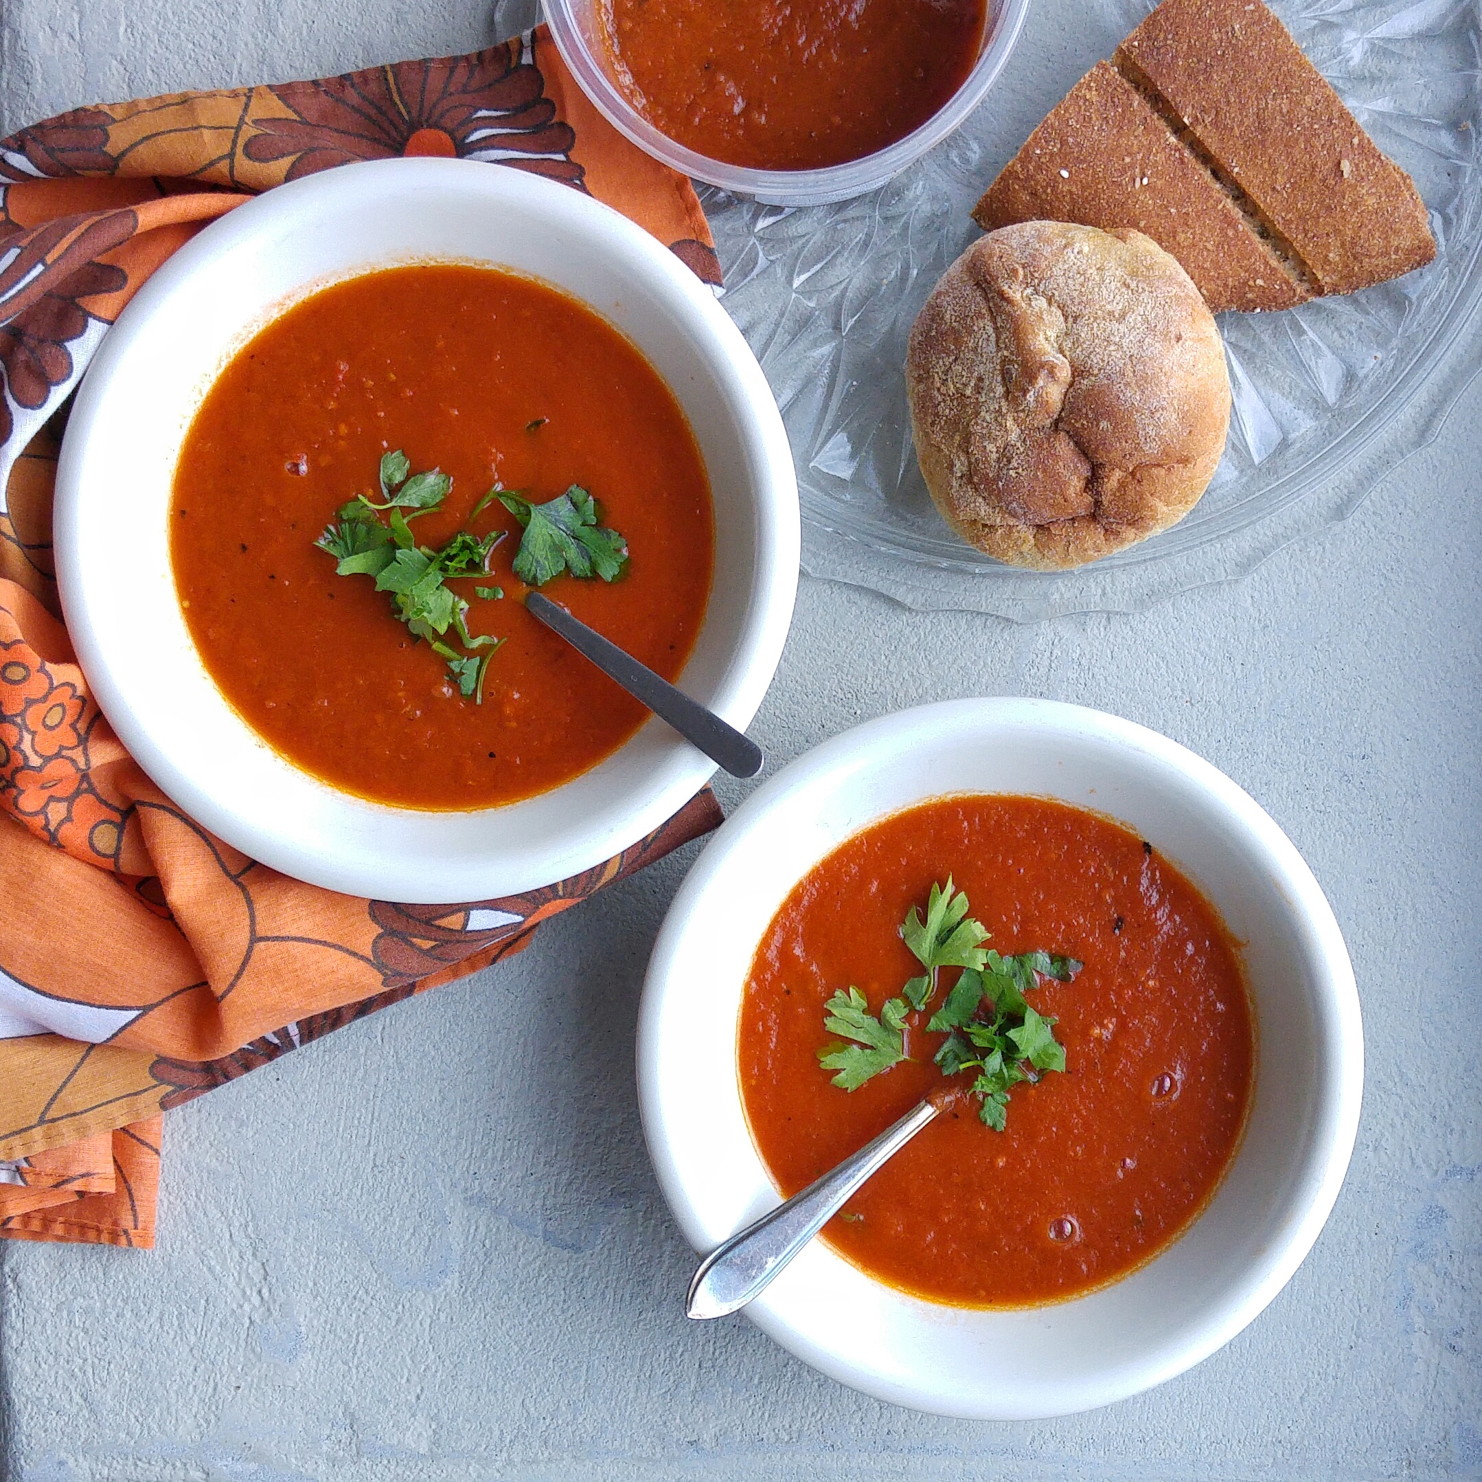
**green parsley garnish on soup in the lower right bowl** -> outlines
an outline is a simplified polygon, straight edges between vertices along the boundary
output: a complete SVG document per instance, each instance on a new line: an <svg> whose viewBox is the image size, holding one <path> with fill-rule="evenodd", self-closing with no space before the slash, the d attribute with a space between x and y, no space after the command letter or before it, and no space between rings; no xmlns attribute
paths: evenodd
<svg viewBox="0 0 1482 1482"><path fill-rule="evenodd" d="M1037 1014L1026 999L1042 978L1070 983L1080 971L1074 957L1048 951L1002 956L984 948L988 932L968 916L968 898L946 885L932 885L926 916L917 907L901 923L901 938L926 974L886 999L879 1017L858 988L834 993L824 1005L824 1029L851 1043L830 1043L818 1063L833 1070L833 1083L857 1091L871 1076L900 1064L906 1055L906 1015L923 1012L937 993L941 968L960 968L941 1006L926 1023L928 1033L946 1034L932 1057L944 1076L977 1071L971 1094L978 1116L1002 1132L1014 1086L1034 1083L1045 1071L1066 1069L1066 1049L1055 1039L1055 1020Z"/></svg>

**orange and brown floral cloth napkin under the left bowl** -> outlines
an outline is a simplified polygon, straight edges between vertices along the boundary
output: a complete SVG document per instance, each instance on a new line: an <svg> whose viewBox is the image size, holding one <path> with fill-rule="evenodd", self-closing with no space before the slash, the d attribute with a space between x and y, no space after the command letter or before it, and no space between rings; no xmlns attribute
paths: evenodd
<svg viewBox="0 0 1482 1482"><path fill-rule="evenodd" d="M587 191L720 283L689 181L591 108L544 30L471 56L79 108L0 139L0 1235L153 1245L162 1112L517 951L719 823L701 793L621 857L507 900L335 895L187 818L87 692L50 562L64 403L87 360L207 221L397 154Z"/></svg>

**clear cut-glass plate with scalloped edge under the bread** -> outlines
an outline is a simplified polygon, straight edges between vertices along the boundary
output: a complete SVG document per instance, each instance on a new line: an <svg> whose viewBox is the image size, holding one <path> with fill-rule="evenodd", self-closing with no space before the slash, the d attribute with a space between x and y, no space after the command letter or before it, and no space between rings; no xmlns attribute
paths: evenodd
<svg viewBox="0 0 1482 1482"><path fill-rule="evenodd" d="M1061 7L1071 12L1071 6ZM1030 130L1149 6L1031 12L1008 71L953 138L868 196L785 209L702 188L723 299L793 443L803 569L922 609L1034 619L1137 611L1226 581L1350 513L1360 455L1411 405L1482 296L1476 0L1277 0L1276 10L1386 154L1409 170L1439 252L1393 283L1279 314L1223 314L1235 393L1224 461L1174 529L1076 572L1026 572L957 541L911 448L903 365L937 277L977 236L969 210ZM1472 347L1482 347L1473 328ZM1460 391L1482 354L1448 376ZM1449 402L1448 402L1449 405ZM1389 452L1389 451L1386 451Z"/></svg>

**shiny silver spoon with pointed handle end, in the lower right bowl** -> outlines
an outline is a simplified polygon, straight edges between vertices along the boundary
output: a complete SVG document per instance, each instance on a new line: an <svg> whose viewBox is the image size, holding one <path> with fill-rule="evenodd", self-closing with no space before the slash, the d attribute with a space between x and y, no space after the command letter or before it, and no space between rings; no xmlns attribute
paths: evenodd
<svg viewBox="0 0 1482 1482"><path fill-rule="evenodd" d="M689 1283L685 1312L725 1317L744 1307L940 1110L931 1101L911 1107L873 1143L711 1251Z"/></svg>

